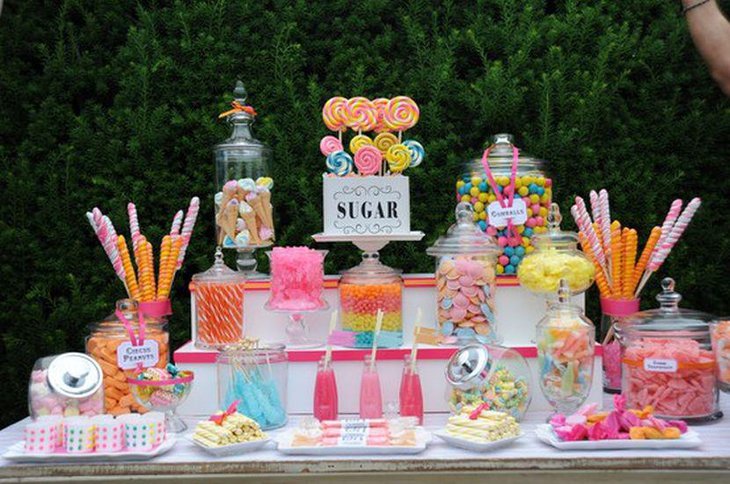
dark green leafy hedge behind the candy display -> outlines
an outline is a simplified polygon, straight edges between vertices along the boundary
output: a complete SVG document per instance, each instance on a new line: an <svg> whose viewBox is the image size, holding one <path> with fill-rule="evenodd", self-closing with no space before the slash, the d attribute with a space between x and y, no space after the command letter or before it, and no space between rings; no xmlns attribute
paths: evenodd
<svg viewBox="0 0 730 484"><path fill-rule="evenodd" d="M34 360L83 348L123 295L84 212L126 232L137 203L159 241L192 195L201 217L174 287L171 332L189 337L186 283L213 252L211 147L236 79L274 149L281 244L321 230L333 95L412 96L427 161L410 172L420 243L386 263L428 272L453 218L453 181L490 134L549 160L556 198L606 187L641 240L675 197L703 206L661 271L686 306L730 313L730 113L677 2L596 0L6 1L0 17L0 424L26 414ZM567 215L567 210L566 210ZM327 271L356 263L329 246ZM655 277L645 306L658 289ZM599 318L595 290L589 315Z"/></svg>

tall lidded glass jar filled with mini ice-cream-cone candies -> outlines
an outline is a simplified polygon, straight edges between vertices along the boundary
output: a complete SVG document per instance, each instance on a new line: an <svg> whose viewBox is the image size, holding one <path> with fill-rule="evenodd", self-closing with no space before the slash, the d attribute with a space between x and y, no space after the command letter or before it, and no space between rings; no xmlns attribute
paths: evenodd
<svg viewBox="0 0 730 484"><path fill-rule="evenodd" d="M247 277L256 272L253 253L274 241L271 192L271 149L253 137L256 111L246 105L246 89L238 81L232 109L221 113L233 126L230 138L214 148L216 163L215 224L217 243L238 251L238 270Z"/></svg>

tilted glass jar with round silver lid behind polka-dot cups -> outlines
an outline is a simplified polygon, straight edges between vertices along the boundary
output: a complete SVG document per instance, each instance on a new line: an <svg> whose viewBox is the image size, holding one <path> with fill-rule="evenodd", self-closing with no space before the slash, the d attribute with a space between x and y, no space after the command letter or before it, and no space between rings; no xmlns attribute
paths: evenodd
<svg viewBox="0 0 730 484"><path fill-rule="evenodd" d="M99 364L83 353L39 358L28 383L30 416L91 417L104 413L102 378Z"/></svg>

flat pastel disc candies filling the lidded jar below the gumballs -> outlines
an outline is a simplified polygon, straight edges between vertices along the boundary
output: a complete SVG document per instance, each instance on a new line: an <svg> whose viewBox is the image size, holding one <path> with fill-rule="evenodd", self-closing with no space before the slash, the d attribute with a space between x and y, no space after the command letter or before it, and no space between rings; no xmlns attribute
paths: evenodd
<svg viewBox="0 0 730 484"><path fill-rule="evenodd" d="M489 258L442 258L436 270L438 322L444 335L497 339L494 263Z"/></svg>

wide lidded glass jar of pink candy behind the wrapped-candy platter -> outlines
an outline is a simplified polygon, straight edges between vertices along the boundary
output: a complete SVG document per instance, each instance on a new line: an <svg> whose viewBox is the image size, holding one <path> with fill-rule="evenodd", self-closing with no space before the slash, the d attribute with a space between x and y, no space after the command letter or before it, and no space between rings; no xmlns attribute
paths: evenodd
<svg viewBox="0 0 730 484"><path fill-rule="evenodd" d="M705 422L722 417L709 322L679 308L674 280L662 280L659 308L616 323L622 349L621 394L629 408L654 407L657 417Z"/></svg>

